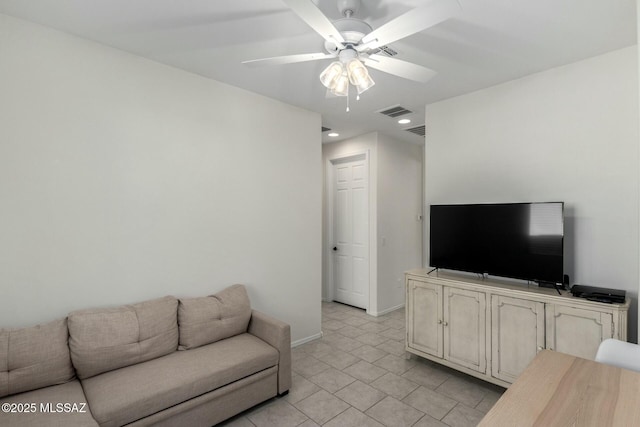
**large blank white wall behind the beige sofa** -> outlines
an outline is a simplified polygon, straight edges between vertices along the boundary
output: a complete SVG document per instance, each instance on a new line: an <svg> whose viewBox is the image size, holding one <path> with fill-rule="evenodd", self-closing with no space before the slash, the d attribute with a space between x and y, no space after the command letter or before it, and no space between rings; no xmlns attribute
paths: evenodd
<svg viewBox="0 0 640 427"><path fill-rule="evenodd" d="M320 333L320 116L0 15L0 327L247 285Z"/></svg>

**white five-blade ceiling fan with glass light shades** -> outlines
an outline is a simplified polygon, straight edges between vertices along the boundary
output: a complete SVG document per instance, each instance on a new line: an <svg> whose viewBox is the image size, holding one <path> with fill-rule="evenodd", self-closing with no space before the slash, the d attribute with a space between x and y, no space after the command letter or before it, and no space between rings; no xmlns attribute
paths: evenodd
<svg viewBox="0 0 640 427"><path fill-rule="evenodd" d="M381 47L451 18L461 9L457 0L429 0L424 6L412 9L374 30L364 20L353 17L360 8L361 0L338 0L338 10L344 18L334 22L311 0L283 1L324 38L326 52L253 59L243 64L282 65L334 59L320 74L320 81L337 96L349 95L349 83L355 86L358 95L371 88L375 82L369 76L367 67L416 82L427 82L436 74L435 71L378 52Z"/></svg>

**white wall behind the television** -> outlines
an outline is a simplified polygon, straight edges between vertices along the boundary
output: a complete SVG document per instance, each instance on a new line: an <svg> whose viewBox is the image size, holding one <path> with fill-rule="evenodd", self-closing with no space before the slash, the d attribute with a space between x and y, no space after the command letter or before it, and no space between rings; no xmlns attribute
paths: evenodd
<svg viewBox="0 0 640 427"><path fill-rule="evenodd" d="M426 206L564 201L565 272L627 290L633 340L637 70L633 46L428 105L425 148Z"/></svg>

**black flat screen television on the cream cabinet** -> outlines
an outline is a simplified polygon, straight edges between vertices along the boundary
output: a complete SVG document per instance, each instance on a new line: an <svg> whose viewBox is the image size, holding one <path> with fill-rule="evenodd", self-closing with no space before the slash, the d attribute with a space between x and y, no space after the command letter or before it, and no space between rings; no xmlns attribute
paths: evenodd
<svg viewBox="0 0 640 427"><path fill-rule="evenodd" d="M431 205L433 268L562 283L564 203Z"/></svg>

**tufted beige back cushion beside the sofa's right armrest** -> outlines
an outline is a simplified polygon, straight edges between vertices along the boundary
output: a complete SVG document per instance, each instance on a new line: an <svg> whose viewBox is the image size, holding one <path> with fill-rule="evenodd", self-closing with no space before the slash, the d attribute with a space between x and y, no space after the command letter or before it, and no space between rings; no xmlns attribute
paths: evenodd
<svg viewBox="0 0 640 427"><path fill-rule="evenodd" d="M243 285L215 295L180 299L180 350L188 350L247 332L251 303Z"/></svg>

